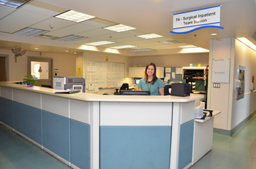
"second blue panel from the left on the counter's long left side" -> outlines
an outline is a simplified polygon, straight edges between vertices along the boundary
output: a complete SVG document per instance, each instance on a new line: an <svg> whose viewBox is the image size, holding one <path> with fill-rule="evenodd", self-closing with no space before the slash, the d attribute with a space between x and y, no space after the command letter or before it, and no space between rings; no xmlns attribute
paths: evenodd
<svg viewBox="0 0 256 169"><path fill-rule="evenodd" d="M42 145L41 110L13 101L13 114L13 128Z"/></svg>

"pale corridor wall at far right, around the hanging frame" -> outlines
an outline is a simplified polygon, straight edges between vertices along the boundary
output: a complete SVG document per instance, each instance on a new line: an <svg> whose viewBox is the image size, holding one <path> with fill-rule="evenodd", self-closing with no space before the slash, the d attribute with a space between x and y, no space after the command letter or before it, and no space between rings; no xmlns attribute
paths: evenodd
<svg viewBox="0 0 256 169"><path fill-rule="evenodd" d="M236 39L235 41L235 62L233 78L237 79L238 65L246 66L244 98L236 101L237 92L233 90L233 106L231 129L239 125L246 117L256 111L256 92L250 91L252 76L256 77L256 51L247 47ZM256 82L256 81L255 81Z"/></svg>

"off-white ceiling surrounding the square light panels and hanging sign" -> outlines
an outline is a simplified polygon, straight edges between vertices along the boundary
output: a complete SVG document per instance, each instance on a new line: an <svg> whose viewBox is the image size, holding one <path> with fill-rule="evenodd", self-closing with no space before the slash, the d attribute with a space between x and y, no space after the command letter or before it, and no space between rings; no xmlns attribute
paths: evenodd
<svg viewBox="0 0 256 169"><path fill-rule="evenodd" d="M203 28L189 34L171 34L173 14L221 4L219 28ZM72 9L93 15L95 18L81 23L62 20L54 16ZM252 38L256 31L256 0L37 0L29 1L18 9L0 5L0 49L22 47L27 51L69 53L89 50L111 52L118 55L172 55L184 53L179 45L192 44L209 49L210 39L246 37ZM115 32L103 29L118 23L137 28L132 31ZM13 33L23 28L47 30L45 34L27 37ZM159 34L162 38L142 39L141 34ZM216 36L211 36L217 33ZM53 40L56 37L86 36L73 42ZM176 40L176 44L162 44L161 41ZM97 47L85 45L89 42L111 41ZM110 47L135 45L132 49L153 49L150 52L131 52L131 49L114 50ZM38 50L35 50L38 48ZM195 51L194 51L195 52ZM206 52L206 51L205 51Z"/></svg>

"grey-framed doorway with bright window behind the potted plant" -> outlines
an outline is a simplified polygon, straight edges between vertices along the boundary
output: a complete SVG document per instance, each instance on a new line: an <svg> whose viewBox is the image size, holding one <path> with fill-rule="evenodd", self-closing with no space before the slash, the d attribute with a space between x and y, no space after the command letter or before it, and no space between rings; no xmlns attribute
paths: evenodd
<svg viewBox="0 0 256 169"><path fill-rule="evenodd" d="M28 75L37 79L37 86L53 86L53 58L28 56Z"/></svg>

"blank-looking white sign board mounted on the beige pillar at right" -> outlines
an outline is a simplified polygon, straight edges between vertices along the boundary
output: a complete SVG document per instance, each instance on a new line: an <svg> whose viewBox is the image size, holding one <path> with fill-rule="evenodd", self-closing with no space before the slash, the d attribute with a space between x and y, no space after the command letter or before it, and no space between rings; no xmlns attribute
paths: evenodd
<svg viewBox="0 0 256 169"><path fill-rule="evenodd" d="M212 83L230 82L230 58L214 58L211 70Z"/></svg>

